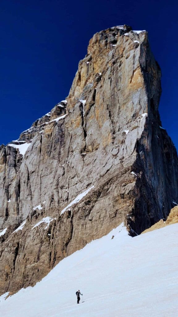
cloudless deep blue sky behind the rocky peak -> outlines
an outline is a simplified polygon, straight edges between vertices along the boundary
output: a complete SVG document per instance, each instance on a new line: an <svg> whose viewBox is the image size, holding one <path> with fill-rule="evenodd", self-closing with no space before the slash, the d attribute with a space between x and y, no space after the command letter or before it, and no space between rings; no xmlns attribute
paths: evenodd
<svg viewBox="0 0 178 317"><path fill-rule="evenodd" d="M128 24L149 32L162 69L162 126L178 149L177 16L177 0L1 0L0 144L65 99L94 33Z"/></svg>

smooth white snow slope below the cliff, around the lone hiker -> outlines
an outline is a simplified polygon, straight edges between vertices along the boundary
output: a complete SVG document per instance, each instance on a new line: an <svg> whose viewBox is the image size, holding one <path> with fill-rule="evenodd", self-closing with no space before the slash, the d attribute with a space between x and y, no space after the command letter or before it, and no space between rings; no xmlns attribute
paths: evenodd
<svg viewBox="0 0 178 317"><path fill-rule="evenodd" d="M1 296L1 316L177 316L177 244L178 224L134 238L122 224L62 260L35 287Z"/></svg>

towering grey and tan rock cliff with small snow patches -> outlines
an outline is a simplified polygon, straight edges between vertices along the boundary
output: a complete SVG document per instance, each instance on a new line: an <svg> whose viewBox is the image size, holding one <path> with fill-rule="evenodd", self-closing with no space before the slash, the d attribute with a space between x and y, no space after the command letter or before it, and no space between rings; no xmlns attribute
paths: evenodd
<svg viewBox="0 0 178 317"><path fill-rule="evenodd" d="M0 293L34 285L123 221L134 236L167 218L178 159L160 77L146 31L96 33L67 100L0 147Z"/></svg>

